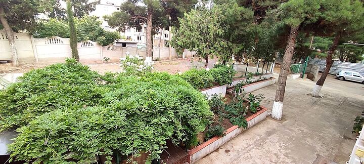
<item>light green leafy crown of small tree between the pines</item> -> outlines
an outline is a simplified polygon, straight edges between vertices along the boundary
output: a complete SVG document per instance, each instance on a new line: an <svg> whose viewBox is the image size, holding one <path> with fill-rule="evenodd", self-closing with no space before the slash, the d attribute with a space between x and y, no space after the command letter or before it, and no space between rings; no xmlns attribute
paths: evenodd
<svg viewBox="0 0 364 164"><path fill-rule="evenodd" d="M171 44L177 49L196 51L205 59L206 67L208 59L213 57L225 63L244 49L240 38L245 33L241 31L245 31L249 26L246 22L252 20L253 11L237 3L214 5L210 10L192 10L179 20Z"/></svg>

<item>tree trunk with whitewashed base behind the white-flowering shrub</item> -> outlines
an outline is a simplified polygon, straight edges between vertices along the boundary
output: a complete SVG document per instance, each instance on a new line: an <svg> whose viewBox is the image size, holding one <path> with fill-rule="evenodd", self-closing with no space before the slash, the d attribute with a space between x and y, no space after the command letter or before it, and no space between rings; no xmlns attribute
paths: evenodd
<svg viewBox="0 0 364 164"><path fill-rule="evenodd" d="M147 53L146 53L146 62L152 62L152 23L153 23L153 9L150 5L148 5L147 11Z"/></svg>

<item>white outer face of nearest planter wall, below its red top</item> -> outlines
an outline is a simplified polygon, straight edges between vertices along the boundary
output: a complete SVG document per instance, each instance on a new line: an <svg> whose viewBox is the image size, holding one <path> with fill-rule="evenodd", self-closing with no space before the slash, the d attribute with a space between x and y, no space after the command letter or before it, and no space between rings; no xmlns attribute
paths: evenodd
<svg viewBox="0 0 364 164"><path fill-rule="evenodd" d="M264 112L260 113L258 116L252 118L251 120L248 121L248 128L253 127L254 125L258 124L258 122L264 120L267 116L268 111L265 110ZM225 136L217 139L216 141L210 143L209 145L207 145L206 147L202 148L201 150L195 152L194 154L190 155L190 163L194 163L197 160L205 157L206 155L210 154L211 152L215 151L216 149L218 149L220 146L222 146L223 144L225 144L226 142L228 142L229 140L231 140L232 138L234 138L235 136L239 135L240 133L244 132L246 129L244 128L237 128L233 131L231 131L230 133L226 134ZM206 141L208 142L208 141Z"/></svg>

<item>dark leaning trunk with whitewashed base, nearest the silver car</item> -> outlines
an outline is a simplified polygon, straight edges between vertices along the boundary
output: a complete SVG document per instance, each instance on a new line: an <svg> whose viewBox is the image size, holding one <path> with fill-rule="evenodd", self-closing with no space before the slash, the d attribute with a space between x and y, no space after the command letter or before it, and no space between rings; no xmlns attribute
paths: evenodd
<svg viewBox="0 0 364 164"><path fill-rule="evenodd" d="M334 42L328 51L328 55L326 57L326 67L324 69L324 72L322 73L320 79L317 80L316 85L313 87L313 90L312 90L313 97L319 96L321 88L324 85L325 79L326 79L327 75L329 74L332 64L334 63L334 60L332 59L332 54L335 52L335 49L336 49L337 45L339 44L339 39L340 39L340 33L337 33L334 38Z"/></svg>

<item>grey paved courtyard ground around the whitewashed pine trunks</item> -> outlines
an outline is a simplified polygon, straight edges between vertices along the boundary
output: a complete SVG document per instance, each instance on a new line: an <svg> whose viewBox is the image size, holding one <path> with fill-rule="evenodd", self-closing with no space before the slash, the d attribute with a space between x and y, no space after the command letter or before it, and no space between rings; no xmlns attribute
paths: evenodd
<svg viewBox="0 0 364 164"><path fill-rule="evenodd" d="M329 75L322 98L306 95L313 85L289 78L281 121L268 116L196 163L345 163L355 144L353 119L364 110L364 85ZM268 110L276 87L253 92L264 94Z"/></svg>

